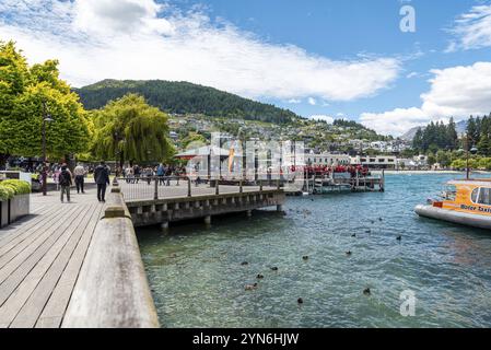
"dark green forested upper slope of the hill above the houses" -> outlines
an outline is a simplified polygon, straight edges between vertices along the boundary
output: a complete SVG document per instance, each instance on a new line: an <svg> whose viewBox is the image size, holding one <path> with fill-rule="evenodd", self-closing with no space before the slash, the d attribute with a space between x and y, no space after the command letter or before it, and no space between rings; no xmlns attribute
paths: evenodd
<svg viewBox="0 0 491 350"><path fill-rule="evenodd" d="M203 114L276 124L287 124L300 118L288 109L188 82L103 80L73 91L80 95L86 109L101 108L127 93L138 93L150 105L169 114Z"/></svg>

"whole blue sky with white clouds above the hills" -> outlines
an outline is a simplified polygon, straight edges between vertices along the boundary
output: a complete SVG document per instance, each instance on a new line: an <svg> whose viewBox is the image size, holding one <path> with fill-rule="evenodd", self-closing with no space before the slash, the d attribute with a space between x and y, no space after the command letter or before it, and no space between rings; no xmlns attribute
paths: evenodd
<svg viewBox="0 0 491 350"><path fill-rule="evenodd" d="M491 112L491 0L0 0L0 39L75 88L189 81L384 135Z"/></svg>

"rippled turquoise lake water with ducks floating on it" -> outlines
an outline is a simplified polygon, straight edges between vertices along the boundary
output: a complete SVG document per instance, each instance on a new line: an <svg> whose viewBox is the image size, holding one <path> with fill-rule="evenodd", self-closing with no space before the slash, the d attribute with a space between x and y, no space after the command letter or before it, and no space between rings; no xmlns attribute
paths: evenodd
<svg viewBox="0 0 491 350"><path fill-rule="evenodd" d="M285 215L140 231L162 325L491 327L491 234L412 211L454 177L389 175L384 194L292 197ZM399 313L405 290L414 317Z"/></svg>

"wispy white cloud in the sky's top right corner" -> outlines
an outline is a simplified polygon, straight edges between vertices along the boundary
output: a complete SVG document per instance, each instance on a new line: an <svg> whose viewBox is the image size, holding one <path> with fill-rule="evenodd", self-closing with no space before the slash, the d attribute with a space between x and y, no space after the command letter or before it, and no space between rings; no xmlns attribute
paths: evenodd
<svg viewBox="0 0 491 350"><path fill-rule="evenodd" d="M476 5L461 14L451 33L456 39L449 43L447 52L491 47L491 3Z"/></svg>

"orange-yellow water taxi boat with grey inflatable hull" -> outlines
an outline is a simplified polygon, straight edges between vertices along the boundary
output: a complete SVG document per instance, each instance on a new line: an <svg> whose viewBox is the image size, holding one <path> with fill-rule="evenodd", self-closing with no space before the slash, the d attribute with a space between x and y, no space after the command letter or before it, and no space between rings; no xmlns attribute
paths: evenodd
<svg viewBox="0 0 491 350"><path fill-rule="evenodd" d="M491 179L448 182L442 200L430 200L414 211L420 217L491 230Z"/></svg>

